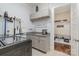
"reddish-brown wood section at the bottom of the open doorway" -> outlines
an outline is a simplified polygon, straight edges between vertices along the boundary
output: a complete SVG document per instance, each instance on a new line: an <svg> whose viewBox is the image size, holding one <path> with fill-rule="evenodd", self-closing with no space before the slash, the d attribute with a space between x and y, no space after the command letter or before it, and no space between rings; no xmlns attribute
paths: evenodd
<svg viewBox="0 0 79 59"><path fill-rule="evenodd" d="M71 55L71 46L67 44L62 44L58 42L54 42L54 49L68 55Z"/></svg>

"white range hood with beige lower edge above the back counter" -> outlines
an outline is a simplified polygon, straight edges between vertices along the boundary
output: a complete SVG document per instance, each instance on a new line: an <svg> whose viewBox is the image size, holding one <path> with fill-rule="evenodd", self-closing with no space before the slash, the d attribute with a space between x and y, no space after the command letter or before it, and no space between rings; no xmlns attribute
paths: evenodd
<svg viewBox="0 0 79 59"><path fill-rule="evenodd" d="M48 9L44 9L41 11L38 11L34 14L31 15L31 20L37 20L37 19L41 19L41 18L48 18L49 17L49 10Z"/></svg>

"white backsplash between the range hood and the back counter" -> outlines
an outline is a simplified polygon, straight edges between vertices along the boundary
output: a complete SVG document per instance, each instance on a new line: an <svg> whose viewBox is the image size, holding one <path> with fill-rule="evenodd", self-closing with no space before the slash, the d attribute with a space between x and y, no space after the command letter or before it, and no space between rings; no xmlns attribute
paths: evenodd
<svg viewBox="0 0 79 59"><path fill-rule="evenodd" d="M50 20L49 18L45 18L45 19L39 19L37 21L33 22L34 26L35 26L35 31L36 32L42 32L42 29L47 29L47 32L50 32Z"/></svg>

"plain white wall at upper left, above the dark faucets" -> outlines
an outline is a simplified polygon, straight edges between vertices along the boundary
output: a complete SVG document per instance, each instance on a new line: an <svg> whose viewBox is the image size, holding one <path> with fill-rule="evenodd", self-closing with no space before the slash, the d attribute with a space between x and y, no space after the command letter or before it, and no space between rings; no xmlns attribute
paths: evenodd
<svg viewBox="0 0 79 59"><path fill-rule="evenodd" d="M23 3L0 3L0 14L4 14L4 11L8 12L9 16L16 16L21 18L22 31L28 32L32 27L30 22L31 4Z"/></svg>

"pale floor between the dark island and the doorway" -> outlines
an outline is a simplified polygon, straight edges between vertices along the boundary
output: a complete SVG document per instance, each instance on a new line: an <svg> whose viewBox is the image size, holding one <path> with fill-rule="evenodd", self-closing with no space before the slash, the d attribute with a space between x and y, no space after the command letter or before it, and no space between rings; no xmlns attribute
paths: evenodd
<svg viewBox="0 0 79 59"><path fill-rule="evenodd" d="M54 52L50 51L44 54L36 49L32 49L32 56L69 56L69 55L58 51L54 51Z"/></svg>

